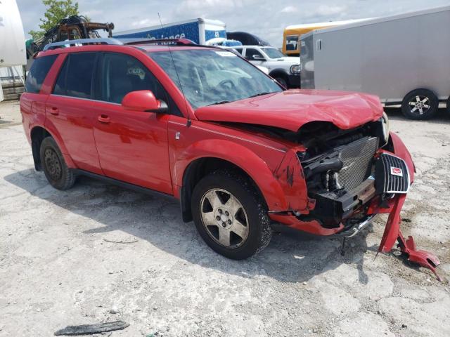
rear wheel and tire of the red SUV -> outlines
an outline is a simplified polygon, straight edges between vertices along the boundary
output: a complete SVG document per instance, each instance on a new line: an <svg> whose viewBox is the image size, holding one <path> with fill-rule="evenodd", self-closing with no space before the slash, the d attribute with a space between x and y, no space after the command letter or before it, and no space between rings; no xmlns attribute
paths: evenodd
<svg viewBox="0 0 450 337"><path fill-rule="evenodd" d="M57 190L68 190L75 183L75 174L65 164L63 154L52 137L42 140L39 150L41 166L50 185Z"/></svg>

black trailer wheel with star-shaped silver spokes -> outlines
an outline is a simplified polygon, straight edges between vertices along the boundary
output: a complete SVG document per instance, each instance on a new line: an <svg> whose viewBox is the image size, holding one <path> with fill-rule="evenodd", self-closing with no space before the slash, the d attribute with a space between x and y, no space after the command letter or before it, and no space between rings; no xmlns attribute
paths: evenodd
<svg viewBox="0 0 450 337"><path fill-rule="evenodd" d="M401 112L406 118L423 120L435 116L439 100L435 93L428 89L410 91L401 103Z"/></svg>

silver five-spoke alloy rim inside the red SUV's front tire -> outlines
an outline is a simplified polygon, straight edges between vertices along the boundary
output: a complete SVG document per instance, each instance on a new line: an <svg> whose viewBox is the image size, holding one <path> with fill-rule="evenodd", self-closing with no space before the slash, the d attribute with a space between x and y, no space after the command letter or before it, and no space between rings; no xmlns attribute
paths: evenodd
<svg viewBox="0 0 450 337"><path fill-rule="evenodd" d="M220 188L207 191L200 201L202 223L210 237L227 248L238 248L248 237L248 217L240 201Z"/></svg>

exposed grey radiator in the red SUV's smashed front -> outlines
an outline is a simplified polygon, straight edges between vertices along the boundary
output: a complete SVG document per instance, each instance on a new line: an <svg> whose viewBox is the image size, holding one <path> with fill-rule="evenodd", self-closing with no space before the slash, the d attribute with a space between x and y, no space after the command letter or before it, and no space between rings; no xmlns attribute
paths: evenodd
<svg viewBox="0 0 450 337"><path fill-rule="evenodd" d="M361 185L371 175L372 160L378 150L377 137L364 137L336 149L342 169L336 173L336 183L344 190Z"/></svg>

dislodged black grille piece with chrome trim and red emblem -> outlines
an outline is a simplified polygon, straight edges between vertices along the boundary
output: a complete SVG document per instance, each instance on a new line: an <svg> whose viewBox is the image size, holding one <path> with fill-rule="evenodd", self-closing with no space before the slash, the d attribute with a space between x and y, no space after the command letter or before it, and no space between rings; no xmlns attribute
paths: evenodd
<svg viewBox="0 0 450 337"><path fill-rule="evenodd" d="M375 183L379 193L406 193L409 171L403 159L383 153L375 164Z"/></svg>

